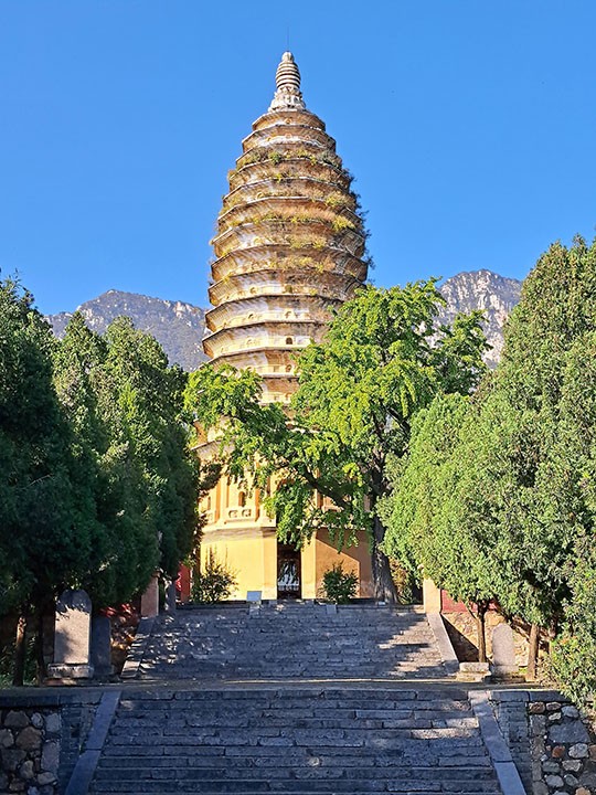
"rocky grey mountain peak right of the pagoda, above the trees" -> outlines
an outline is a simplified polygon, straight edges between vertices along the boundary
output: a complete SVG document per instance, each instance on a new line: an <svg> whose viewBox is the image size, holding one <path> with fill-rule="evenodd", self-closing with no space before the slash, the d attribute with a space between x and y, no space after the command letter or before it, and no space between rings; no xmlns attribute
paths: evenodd
<svg viewBox="0 0 596 795"><path fill-rule="evenodd" d="M489 367L496 367L503 349L503 327L509 314L520 300L522 283L499 276L492 271L470 271L444 282L439 289L447 301L440 312L441 322L451 322L457 312L481 309L486 317L485 333L492 349L485 356Z"/></svg>

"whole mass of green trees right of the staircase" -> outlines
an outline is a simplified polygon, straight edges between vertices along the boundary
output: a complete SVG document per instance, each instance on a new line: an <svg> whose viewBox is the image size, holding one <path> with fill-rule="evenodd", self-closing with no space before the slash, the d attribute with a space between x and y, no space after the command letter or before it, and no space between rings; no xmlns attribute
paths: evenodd
<svg viewBox="0 0 596 795"><path fill-rule="evenodd" d="M596 687L595 335L596 242L554 244L523 284L496 373L466 405L437 398L418 416L384 507L387 549L456 596L496 597L558 634L554 669L584 697Z"/></svg>

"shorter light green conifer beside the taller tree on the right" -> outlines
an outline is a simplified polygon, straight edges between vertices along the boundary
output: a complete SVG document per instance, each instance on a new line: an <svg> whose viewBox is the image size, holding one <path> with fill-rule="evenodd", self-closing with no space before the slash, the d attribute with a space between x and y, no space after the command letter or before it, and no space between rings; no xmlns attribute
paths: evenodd
<svg viewBox="0 0 596 795"><path fill-rule="evenodd" d="M416 580L430 577L470 612L476 608L479 660L486 661L485 615L494 595L494 561L486 543L491 524L473 505L480 488L475 470L487 444L477 431L477 407L468 396L436 395L415 417L407 456L394 463L394 490L381 513L389 554ZM491 485L485 485L488 495Z"/></svg>

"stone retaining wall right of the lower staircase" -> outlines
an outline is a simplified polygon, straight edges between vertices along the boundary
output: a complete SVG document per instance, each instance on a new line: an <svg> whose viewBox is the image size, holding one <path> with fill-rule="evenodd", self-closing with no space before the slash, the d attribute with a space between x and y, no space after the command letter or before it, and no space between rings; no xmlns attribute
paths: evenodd
<svg viewBox="0 0 596 795"><path fill-rule="evenodd" d="M529 795L596 794L596 738L565 697L494 690L490 699Z"/></svg>

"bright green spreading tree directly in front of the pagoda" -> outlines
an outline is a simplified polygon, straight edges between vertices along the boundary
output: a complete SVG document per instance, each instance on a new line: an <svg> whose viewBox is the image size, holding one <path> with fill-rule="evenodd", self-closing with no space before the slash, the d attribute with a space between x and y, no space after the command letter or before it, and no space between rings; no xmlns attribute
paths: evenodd
<svg viewBox="0 0 596 795"><path fill-rule="evenodd" d="M483 369L480 314L436 328L441 303L433 280L361 289L299 357L289 421L280 405L258 405L255 373L207 365L191 380L200 423L222 430L227 471L265 489L276 479L266 505L278 534L300 544L326 527L341 548L366 530L375 595L387 601L396 594L376 510L391 487L387 462L404 455L412 417L434 394L468 393ZM315 491L333 508L318 508Z"/></svg>

